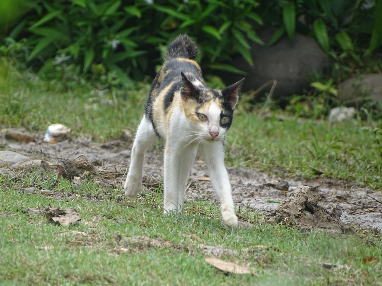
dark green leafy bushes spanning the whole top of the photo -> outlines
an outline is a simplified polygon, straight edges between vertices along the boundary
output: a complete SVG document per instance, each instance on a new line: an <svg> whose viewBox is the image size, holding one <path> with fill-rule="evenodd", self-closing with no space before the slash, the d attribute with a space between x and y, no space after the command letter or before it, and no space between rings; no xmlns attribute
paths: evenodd
<svg viewBox="0 0 382 286"><path fill-rule="evenodd" d="M5 0L11 2L11 0ZM28 1L26 1L28 2ZM262 24L278 27L267 45L295 32L315 37L335 61L334 84L357 71L382 43L382 0L29 0L32 9L11 29L0 53L22 51L40 76L59 78L68 66L97 80L133 84L153 75L168 43L187 33L201 46L204 71L242 74L228 65ZM28 5L26 5L28 6ZM61 66L64 66L61 68ZM212 72L213 73L213 72Z"/></svg>

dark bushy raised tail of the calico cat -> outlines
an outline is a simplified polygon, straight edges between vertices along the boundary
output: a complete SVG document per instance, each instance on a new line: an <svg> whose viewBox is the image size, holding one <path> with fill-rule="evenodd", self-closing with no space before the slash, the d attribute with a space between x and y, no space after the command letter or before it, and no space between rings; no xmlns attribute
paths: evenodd
<svg viewBox="0 0 382 286"><path fill-rule="evenodd" d="M188 35L179 35L167 48L166 58L194 59L199 54L197 44Z"/></svg>

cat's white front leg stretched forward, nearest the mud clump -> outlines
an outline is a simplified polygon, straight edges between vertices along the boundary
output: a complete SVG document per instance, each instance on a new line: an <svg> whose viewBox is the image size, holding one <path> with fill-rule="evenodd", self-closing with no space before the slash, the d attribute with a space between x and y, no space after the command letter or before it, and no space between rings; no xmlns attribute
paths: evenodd
<svg viewBox="0 0 382 286"><path fill-rule="evenodd" d="M206 141L200 153L207 164L210 180L220 199L220 211L223 222L228 227L237 227L238 219L231 194L231 184L224 166L224 147L222 141Z"/></svg>

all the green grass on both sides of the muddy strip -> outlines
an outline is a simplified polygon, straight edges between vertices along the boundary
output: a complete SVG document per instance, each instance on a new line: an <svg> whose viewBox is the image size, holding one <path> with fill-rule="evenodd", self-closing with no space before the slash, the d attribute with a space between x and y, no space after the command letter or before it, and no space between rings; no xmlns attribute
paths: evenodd
<svg viewBox="0 0 382 286"><path fill-rule="evenodd" d="M148 85L98 94L81 82L68 86L38 80L2 61L3 127L24 127L43 136L49 124L59 122L74 137L107 141L123 129L134 130L142 116ZM323 177L379 189L380 146L364 125L358 120L333 125L263 120L239 107L228 132L227 164L281 177L316 177L312 165L324 170ZM52 191L62 196L22 190L50 185L53 179L37 173L23 180L0 177L2 285L382 285L382 237L368 230L337 237L324 231L301 233L240 210L254 228L232 230L222 224L217 204L186 202L184 214L164 215L160 192L128 200L120 190L91 181L75 191L73 183L60 180ZM48 204L77 209L82 222L62 227L27 212ZM136 235L159 239L163 246L129 242ZM251 267L255 275L220 272L204 261L209 255L199 244L234 251L220 258ZM369 257L375 259L364 263ZM324 262L346 267L327 270Z"/></svg>

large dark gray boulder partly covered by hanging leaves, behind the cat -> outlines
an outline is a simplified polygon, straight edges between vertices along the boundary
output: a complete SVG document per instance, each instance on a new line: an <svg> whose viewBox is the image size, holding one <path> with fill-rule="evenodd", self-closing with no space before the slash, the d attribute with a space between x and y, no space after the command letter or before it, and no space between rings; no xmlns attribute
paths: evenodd
<svg viewBox="0 0 382 286"><path fill-rule="evenodd" d="M274 32L275 29L265 28L259 32L259 37L268 43ZM271 47L253 43L251 55L254 63L252 67L241 56L230 63L247 72L243 91L256 90L265 82L275 79L275 98L303 93L314 79L314 73L322 72L329 64L327 55L316 40L298 33L295 34L293 43L286 35ZM226 84L241 78L232 74L224 74L221 77ZM269 91L270 87L266 91Z"/></svg>

